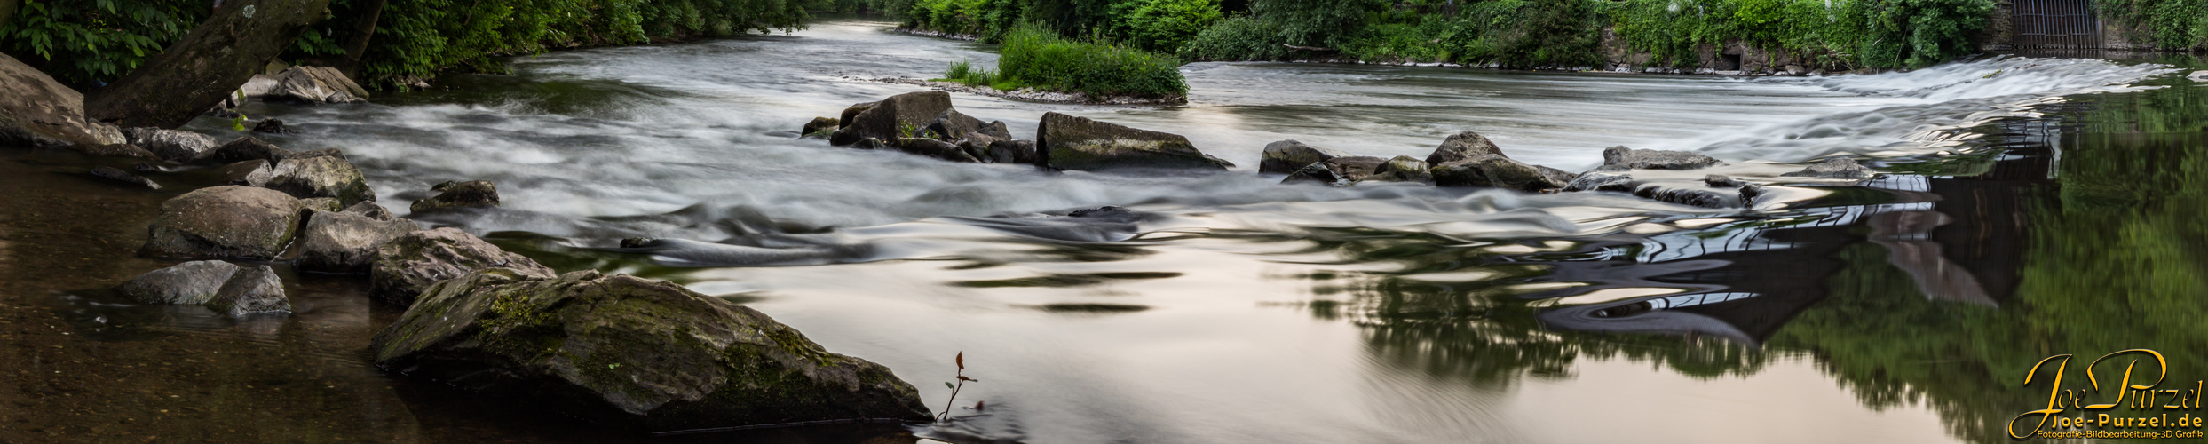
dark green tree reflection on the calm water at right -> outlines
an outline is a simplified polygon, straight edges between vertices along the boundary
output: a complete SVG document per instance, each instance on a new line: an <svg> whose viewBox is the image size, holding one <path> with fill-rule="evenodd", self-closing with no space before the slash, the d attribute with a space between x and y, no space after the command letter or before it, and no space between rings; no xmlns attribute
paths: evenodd
<svg viewBox="0 0 2208 444"><path fill-rule="evenodd" d="M1667 258L1727 258L1727 265L1632 276L1691 292L1707 292L1694 287L1698 283L1740 292L1747 287L1738 274L1742 261L1833 263L1795 289L1758 287L1758 298L1742 300L1800 303L1788 303L1793 309L1782 309L1771 331L1753 329L1771 316L1729 320L1751 325L1744 331L1755 342L1543 325L1539 316L1554 307L1539 300L1605 287L1599 281L1541 287L1559 283L1546 274L1574 256L1618 261L1621 254L1603 254L1614 252L1614 239L1572 239L1574 245L1561 252L1490 254L1420 234L1320 232L1305 241L1340 254L1345 265L1393 263L1400 269L1314 276L1314 285L1329 289L1320 294L1347 296L1318 303L1314 311L1360 325L1371 353L1393 371L1484 389L1512 387L1519 378L1570 378L1581 358L1627 358L1713 378L1755 373L1771 358L1806 353L1864 406L1921 402L1954 437L2009 442L2005 424L2047 402L2045 382L2020 387L2025 371L2047 356L2080 358L2064 387L2087 387L2078 367L2122 349L2159 349L2170 360L2170 380L2208 380L2208 323L2199 323L2208 318L2208 221L2201 221L2208 106L2199 104L2208 104L2208 88L2078 97L2051 113L2053 119L2038 121L2045 128L2031 128L2040 135L2011 126L2009 137L1989 137L1992 146L2016 148L2009 155L1903 166L1967 175L1932 177L1919 190L1939 197L1930 208L1868 214L1839 228L1846 232L1839 239L1788 239L1795 245L1782 250L1793 256ZM2051 161L2049 146L2060 148L2060 163ZM2058 170L2049 175L2047 168ZM1738 228L1707 232L1731 236L1729 230ZM1784 232L1758 236L1788 236ZM1630 276L1634 265L1641 263L1596 276ZM1415 278L1442 272L1490 274L1466 283Z"/></svg>

